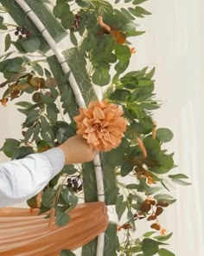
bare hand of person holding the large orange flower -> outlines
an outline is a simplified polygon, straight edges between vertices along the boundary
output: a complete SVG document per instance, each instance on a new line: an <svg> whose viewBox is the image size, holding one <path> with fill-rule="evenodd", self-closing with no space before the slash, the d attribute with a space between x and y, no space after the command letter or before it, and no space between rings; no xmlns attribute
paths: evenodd
<svg viewBox="0 0 204 256"><path fill-rule="evenodd" d="M75 135L59 146L65 154L65 164L83 163L92 161L99 153L88 147L86 140Z"/></svg>

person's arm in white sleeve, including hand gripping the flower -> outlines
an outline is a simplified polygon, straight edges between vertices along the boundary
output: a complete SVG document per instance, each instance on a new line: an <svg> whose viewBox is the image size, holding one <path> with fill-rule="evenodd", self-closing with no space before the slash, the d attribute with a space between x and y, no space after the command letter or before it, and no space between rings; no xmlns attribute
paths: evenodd
<svg viewBox="0 0 204 256"><path fill-rule="evenodd" d="M0 207L28 200L60 173L64 164L92 161L96 154L84 139L73 136L59 148L1 164Z"/></svg>

